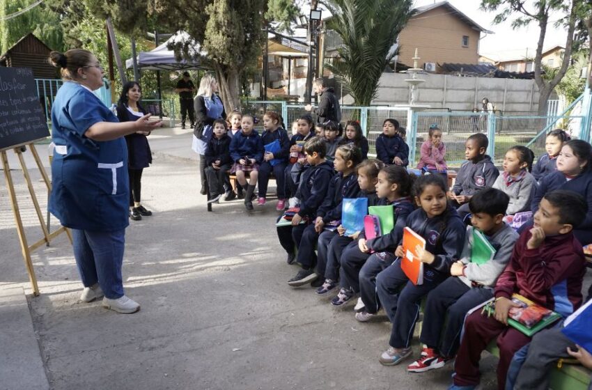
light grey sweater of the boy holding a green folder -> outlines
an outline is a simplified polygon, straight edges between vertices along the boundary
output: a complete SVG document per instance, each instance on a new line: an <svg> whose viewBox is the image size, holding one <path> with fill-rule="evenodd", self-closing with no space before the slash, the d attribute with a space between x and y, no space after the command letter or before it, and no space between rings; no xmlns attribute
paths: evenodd
<svg viewBox="0 0 592 390"><path fill-rule="evenodd" d="M473 249L473 226L467 226L465 235L465 244L462 246L460 260L465 263L464 275L458 276L463 283L473 287L473 282L481 286L493 288L501 272L510 261L510 256L518 240L518 233L504 222L504 227L499 229L494 235L485 235L491 246L495 249L493 258L484 264L471 263L471 251Z"/></svg>

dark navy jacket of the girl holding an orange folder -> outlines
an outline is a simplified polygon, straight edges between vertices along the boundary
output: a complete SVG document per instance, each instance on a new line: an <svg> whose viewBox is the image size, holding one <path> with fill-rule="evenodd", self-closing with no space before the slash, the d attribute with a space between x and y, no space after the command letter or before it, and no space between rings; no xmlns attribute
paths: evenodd
<svg viewBox="0 0 592 390"><path fill-rule="evenodd" d="M460 259L467 230L455 208L449 205L446 212L433 218L419 208L407 216L407 226L426 239L426 250L435 256L434 263L423 265L423 272L431 269L449 275L452 263ZM398 228L400 245L403 228Z"/></svg>

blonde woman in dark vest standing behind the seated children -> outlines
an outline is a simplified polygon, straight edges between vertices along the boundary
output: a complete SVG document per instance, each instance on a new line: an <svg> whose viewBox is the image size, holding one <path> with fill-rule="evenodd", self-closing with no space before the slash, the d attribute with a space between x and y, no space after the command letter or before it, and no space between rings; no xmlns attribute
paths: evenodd
<svg viewBox="0 0 592 390"><path fill-rule="evenodd" d="M199 83L194 99L195 128L193 130L193 150L199 155L199 176L201 176L201 194L206 193L205 183L205 148L212 138L212 124L216 119L226 118L224 104L216 94L218 82L215 77L205 74Z"/></svg>

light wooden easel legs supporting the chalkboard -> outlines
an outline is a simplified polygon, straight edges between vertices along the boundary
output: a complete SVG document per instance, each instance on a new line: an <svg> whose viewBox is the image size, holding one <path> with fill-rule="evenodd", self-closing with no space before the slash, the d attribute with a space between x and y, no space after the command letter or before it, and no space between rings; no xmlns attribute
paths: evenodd
<svg viewBox="0 0 592 390"><path fill-rule="evenodd" d="M29 170L26 168L26 164L24 163L24 157L22 153L26 150L26 147L29 146L29 150L31 150L31 154L37 163L39 171L43 180L45 181L45 185L47 186L47 191L52 190L52 182L49 180L49 176L45 172L45 168L41 163L41 159L37 153L35 145L33 142L25 143L24 145L13 147L12 149L16 153L20 166L22 168L22 173L24 176L24 180L26 182L27 187L29 187L29 194L31 194L31 200L33 201L33 205L35 206L35 211L37 212L37 217L39 219L39 223L41 225L41 229L43 231L43 238L38 242L35 242L31 246L27 244L26 235L24 233L24 226L22 224L21 214L19 210L19 205L17 202L17 195L15 192L15 185L13 182L13 176L10 173L10 166L8 166L8 155L6 155L6 150L0 150L0 157L2 159L2 167L4 169L4 178L6 180L6 188L8 189L8 196L10 196L10 204L13 207L13 213L15 214L15 222L17 224L17 232L19 235L19 240L21 244L21 251L22 256L24 259L24 265L26 267L26 272L29 274L29 281L31 282L31 288L33 288L33 295L39 295L39 288L37 286L37 278L35 276L35 270L33 270L33 262L31 261L31 251L34 251L42 244L49 243L58 235L65 232L70 239L70 243L72 242L72 235L70 235L70 231L68 228L61 226L59 229L54 231L53 233L49 233L49 226L45 225L45 220L43 219L43 214L41 212L41 208L39 207L39 202L37 201L37 196L35 194L35 190L33 189L33 182L31 182L31 177L29 176Z"/></svg>

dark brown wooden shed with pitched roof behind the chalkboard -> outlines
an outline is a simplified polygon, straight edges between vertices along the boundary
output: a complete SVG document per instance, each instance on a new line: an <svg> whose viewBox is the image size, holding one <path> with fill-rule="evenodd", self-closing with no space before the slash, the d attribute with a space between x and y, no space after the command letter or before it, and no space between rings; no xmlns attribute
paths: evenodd
<svg viewBox="0 0 592 390"><path fill-rule="evenodd" d="M56 68L47 61L50 52L42 40L28 33L0 56L0 66L32 68L36 79L57 79Z"/></svg>

